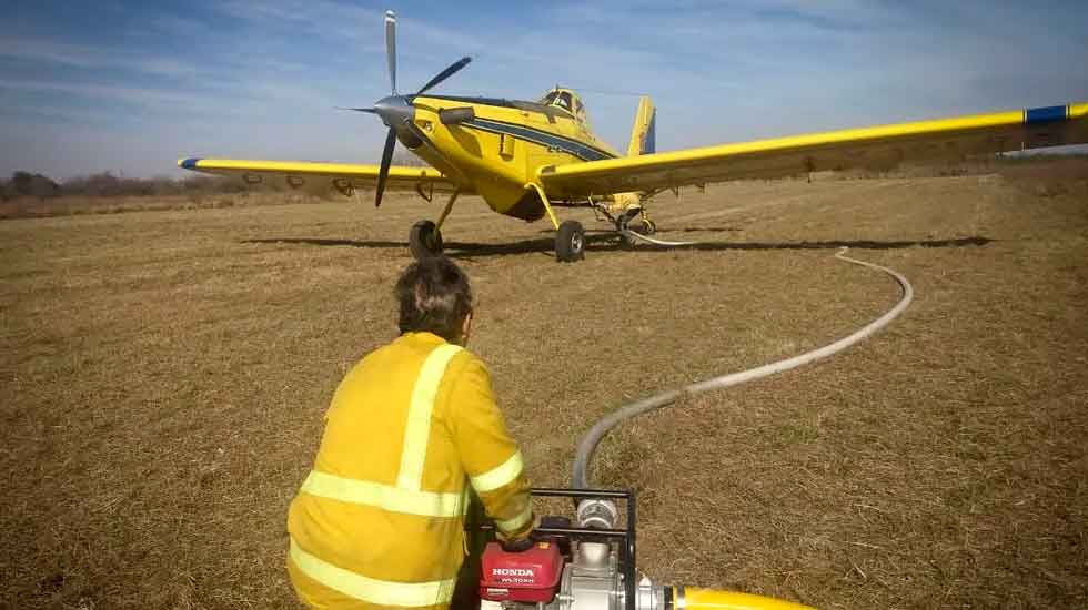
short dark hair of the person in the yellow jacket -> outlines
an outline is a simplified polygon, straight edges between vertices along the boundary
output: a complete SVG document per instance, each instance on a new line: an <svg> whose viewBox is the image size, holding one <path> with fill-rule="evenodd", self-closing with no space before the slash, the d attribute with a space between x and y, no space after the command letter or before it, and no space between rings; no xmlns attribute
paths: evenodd
<svg viewBox="0 0 1088 610"><path fill-rule="evenodd" d="M401 333L430 332L449 340L461 338L461 324L472 312L469 276L445 256L412 263L396 281Z"/></svg>

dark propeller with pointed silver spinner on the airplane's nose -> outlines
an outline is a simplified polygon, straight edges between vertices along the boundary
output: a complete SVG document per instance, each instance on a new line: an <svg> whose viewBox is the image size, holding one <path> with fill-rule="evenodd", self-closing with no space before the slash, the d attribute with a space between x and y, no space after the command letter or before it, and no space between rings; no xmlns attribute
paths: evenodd
<svg viewBox="0 0 1088 610"><path fill-rule="evenodd" d="M411 95L401 95L396 92L396 13L385 11L385 61L389 69L389 83L391 94L379 100L373 108L341 108L340 110L351 110L354 112L366 112L377 114L382 122L389 125L389 134L385 136L385 149L382 151L382 164L377 170L377 189L374 193L374 206L382 205L382 195L385 192L385 183L389 181L390 165L393 163L393 150L396 148L396 131L404 130L419 138L430 151L436 156L445 160L445 155L440 151L412 121L415 119L415 106L412 100L416 95L434 89L450 77L456 74L472 61L470 57L463 57L453 62L445 70L439 72L433 79L426 82L419 91ZM447 163L449 164L449 163ZM452 166L452 164L451 164Z"/></svg>

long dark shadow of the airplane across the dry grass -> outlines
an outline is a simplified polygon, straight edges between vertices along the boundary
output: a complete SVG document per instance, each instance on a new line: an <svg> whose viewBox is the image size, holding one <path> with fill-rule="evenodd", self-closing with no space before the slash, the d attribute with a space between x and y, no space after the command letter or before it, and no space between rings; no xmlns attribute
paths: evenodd
<svg viewBox="0 0 1088 610"><path fill-rule="evenodd" d="M678 230L683 231L683 230ZM669 231L673 233L673 231ZM667 240L668 237L663 237ZM698 242L682 246L657 246L642 244L628 248L619 243L615 235L608 233L585 236L586 250L590 252L612 252L632 250L635 252L663 252L673 250L696 251L729 251L729 250L837 250L849 247L856 250L898 250L906 247L965 247L985 246L994 240L983 236L958 237L951 240L830 240L820 242ZM263 240L242 240L243 244L303 244L313 246L346 246L362 248L407 250L406 242L393 241L357 241L332 240L318 237L269 237ZM476 256L503 256L508 254L546 254L552 255L555 241L552 237L538 237L506 242L498 244L478 244L473 242L446 242L445 254L452 258L472 258Z"/></svg>

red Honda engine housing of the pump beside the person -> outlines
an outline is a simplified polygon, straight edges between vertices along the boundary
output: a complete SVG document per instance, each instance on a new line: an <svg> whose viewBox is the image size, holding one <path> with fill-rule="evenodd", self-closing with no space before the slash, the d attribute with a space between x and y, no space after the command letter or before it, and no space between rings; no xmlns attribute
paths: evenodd
<svg viewBox="0 0 1088 610"><path fill-rule="evenodd" d="M480 597L490 601L548 602L563 576L563 556L542 540L521 552L506 552L488 542L481 558Z"/></svg>

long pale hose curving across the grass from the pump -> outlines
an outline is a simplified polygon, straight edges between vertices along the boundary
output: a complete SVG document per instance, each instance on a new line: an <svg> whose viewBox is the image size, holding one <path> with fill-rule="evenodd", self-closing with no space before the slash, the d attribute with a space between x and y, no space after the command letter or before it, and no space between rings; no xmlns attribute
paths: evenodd
<svg viewBox="0 0 1088 610"><path fill-rule="evenodd" d="M665 242L663 245L671 245L671 243ZM572 487L575 489L591 488L588 484L587 469L590 459L593 458L593 451L597 448L597 444L601 443L601 439L608 434L608 430L614 428L621 421L646 411L672 405L679 398L687 395L739 385L745 382L767 377L769 375L774 375L775 373L782 373L784 370L789 370L790 368L796 368L798 366L826 358L832 354L842 352L843 349L868 338L901 314L904 309L907 308L907 305L910 304L910 301L914 299L914 288L910 286L910 282L908 282L907 278L900 275L898 272L889 270L888 267L882 267L880 265L875 265L873 263L849 258L844 255L845 252L845 247L839 250L835 257L856 265L883 271L899 283L899 287L903 289L903 298L899 299L899 303L897 303L895 307L891 307L891 309L889 309L886 314L863 326L854 334L843 337L830 345L825 345L818 349L813 349L812 352L806 352L805 354L800 354L785 360L778 360L776 363L766 364L756 368L749 368L739 373L731 373L728 375L722 375L721 377L714 377L705 382L691 384L681 389L665 392L621 407L616 411L597 421L593 428L591 428L590 431L582 437L582 441L578 444L577 454L574 457Z"/></svg>

